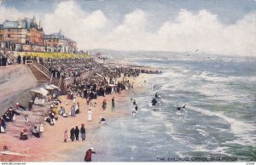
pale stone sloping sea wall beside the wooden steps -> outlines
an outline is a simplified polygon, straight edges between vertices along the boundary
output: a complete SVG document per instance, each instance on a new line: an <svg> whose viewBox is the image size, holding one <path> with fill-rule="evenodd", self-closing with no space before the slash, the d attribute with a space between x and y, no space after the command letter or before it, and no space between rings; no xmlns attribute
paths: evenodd
<svg viewBox="0 0 256 165"><path fill-rule="evenodd" d="M26 65L0 67L0 115L16 102L27 105L31 100L29 89L38 86L38 82Z"/></svg>

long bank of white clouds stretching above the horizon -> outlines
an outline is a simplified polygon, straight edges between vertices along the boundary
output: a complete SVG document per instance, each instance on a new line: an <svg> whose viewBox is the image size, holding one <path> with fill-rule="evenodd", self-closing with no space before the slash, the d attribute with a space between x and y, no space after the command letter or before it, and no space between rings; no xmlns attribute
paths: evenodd
<svg viewBox="0 0 256 165"><path fill-rule="evenodd" d="M155 11L157 12L157 11ZM6 16L26 16L16 9L0 8ZM75 1L59 3L55 11L38 15L45 33L61 31L77 41L79 48L109 48L117 50L160 50L191 52L200 49L206 54L256 56L256 13L247 14L236 23L226 25L217 14L202 9L190 12L181 9L175 20L166 18L156 31L148 30L150 15L135 9L123 15L123 20L110 20L102 12L87 12ZM5 19L4 18L4 19ZM3 21L1 17L0 21Z"/></svg>

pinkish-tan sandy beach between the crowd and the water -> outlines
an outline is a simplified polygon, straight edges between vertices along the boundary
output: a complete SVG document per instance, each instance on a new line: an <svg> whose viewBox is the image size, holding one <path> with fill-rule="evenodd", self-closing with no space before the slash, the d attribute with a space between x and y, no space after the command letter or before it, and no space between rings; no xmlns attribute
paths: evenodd
<svg viewBox="0 0 256 165"><path fill-rule="evenodd" d="M150 75L142 74L137 78L129 77L131 83L134 83L134 91L139 92L143 90L145 80L148 79ZM84 153L90 148L90 144L93 139L92 134L96 128L101 127L99 124L99 118L105 117L107 122L114 120L116 117L125 117L131 115L131 111L119 111L118 103L120 101L130 101L131 91L123 90L121 94L112 94L106 97L98 97L96 101L96 107L89 107L86 105L84 98L77 97L77 102L80 105L80 113L76 117L61 117L56 121L54 126L50 126L47 122L42 122L44 119L44 114L46 113L45 109L38 109L33 111L22 111L22 115L17 116L15 122L8 122L8 129L6 134L0 134L0 149L3 150L3 146L6 145L9 148L9 151L18 152L21 154L27 154L30 156L13 156L13 155L0 155L0 160L3 162L52 162L52 161L64 161L67 156L74 149L79 147L84 148ZM111 107L111 99L115 97L116 107L114 111ZM70 110L70 107L73 103L73 100L67 100L67 96L60 97L61 105L65 107L66 111ZM102 101L107 100L107 110L102 110ZM59 107L61 106L59 105ZM93 111L92 122L88 122L88 109ZM23 120L23 115L32 116L30 123L25 123ZM44 133L41 138L35 138L29 136L28 140L20 140L20 130L23 128L30 128L33 124L44 123ZM63 142L64 130L69 131L75 126L81 126L81 123L84 123L86 129L86 140L85 141L74 141L72 142L68 139L67 143ZM80 134L79 134L80 135ZM83 157L84 157L84 153Z"/></svg>

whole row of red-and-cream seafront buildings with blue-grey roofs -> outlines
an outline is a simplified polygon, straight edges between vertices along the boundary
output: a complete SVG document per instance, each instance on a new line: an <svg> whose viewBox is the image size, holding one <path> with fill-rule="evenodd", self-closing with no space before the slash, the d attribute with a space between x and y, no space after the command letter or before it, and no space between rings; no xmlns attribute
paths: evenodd
<svg viewBox="0 0 256 165"><path fill-rule="evenodd" d="M33 19L10 21L0 24L0 48L16 51L62 52L73 54L77 43L58 33L44 35L41 22Z"/></svg>

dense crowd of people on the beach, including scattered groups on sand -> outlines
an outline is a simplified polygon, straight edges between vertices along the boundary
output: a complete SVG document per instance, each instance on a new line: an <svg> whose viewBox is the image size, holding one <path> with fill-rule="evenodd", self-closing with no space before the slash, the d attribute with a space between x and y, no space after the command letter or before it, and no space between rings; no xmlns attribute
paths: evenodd
<svg viewBox="0 0 256 165"><path fill-rule="evenodd" d="M126 79L126 77L138 77L141 73L160 73L160 71L148 71L145 69L137 68L126 68L118 66L109 66L99 64L92 59L43 59L30 56L20 55L17 58L18 64L25 64L26 60L37 60L37 62L44 67L49 69L49 72L56 78L67 78L73 77L73 83L67 85L67 99L73 100L73 104L70 106L70 110L66 111L63 106L60 106L60 101L55 100L50 105L47 116L44 117L44 122L48 122L49 125L55 125L55 122L58 120L58 116L61 117L76 117L80 113L79 102L77 102L76 97L82 97L86 100L88 105L88 121L92 121L92 110L90 107L96 106L96 99L98 97L105 97L110 94L120 94L122 90L133 89L133 83ZM86 74L88 73L88 74ZM122 78L121 78L122 77ZM153 102L152 102L153 103ZM19 111L30 111L32 110L32 102L30 102L27 107L21 105L20 103L16 104L16 109ZM107 100L102 101L102 111L107 109ZM115 107L115 98L112 97L111 104L112 108ZM133 100L134 111L133 114L136 114L138 111L138 105L136 100ZM6 122L12 122L15 118L15 115L20 115L18 111L15 111L13 108L10 108L0 119L1 132L6 130ZM28 122L28 117L25 117L25 122ZM106 118L101 117L99 123L105 123ZM81 139L84 141L86 139L84 123L81 124L81 127L75 126L68 131L64 130L63 141L67 143L68 137L71 141L79 141ZM20 131L20 140L26 140L30 135L40 138L44 132L44 126L41 124L38 128L37 125L33 125L31 130L23 128ZM88 153L87 153L88 152ZM91 149L86 152L84 161L91 161L91 153L95 153ZM90 153L89 153L90 152Z"/></svg>

